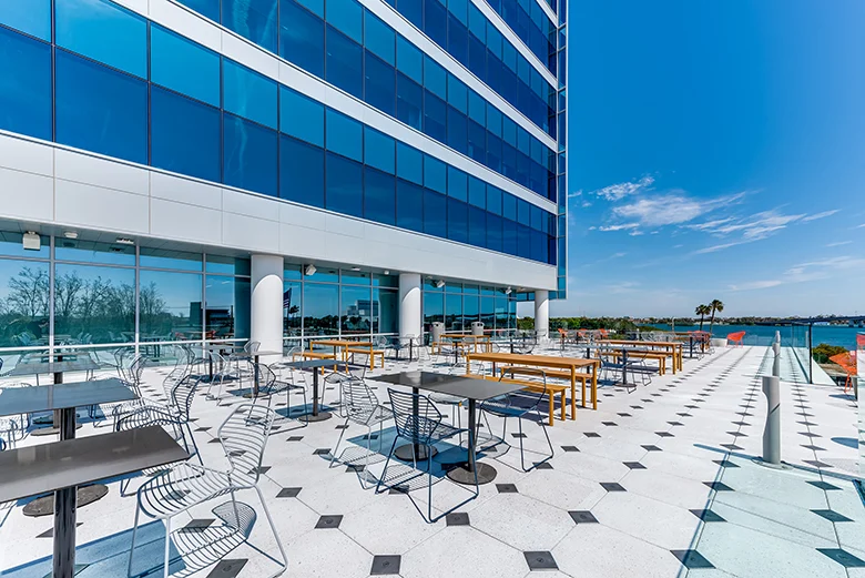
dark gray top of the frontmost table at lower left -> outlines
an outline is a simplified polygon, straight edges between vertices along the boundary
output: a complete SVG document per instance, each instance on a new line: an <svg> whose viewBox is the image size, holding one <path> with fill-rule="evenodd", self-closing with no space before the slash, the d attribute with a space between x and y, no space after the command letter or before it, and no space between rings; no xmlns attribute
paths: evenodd
<svg viewBox="0 0 865 578"><path fill-rule="evenodd" d="M0 452L0 504L187 458L160 426Z"/></svg>

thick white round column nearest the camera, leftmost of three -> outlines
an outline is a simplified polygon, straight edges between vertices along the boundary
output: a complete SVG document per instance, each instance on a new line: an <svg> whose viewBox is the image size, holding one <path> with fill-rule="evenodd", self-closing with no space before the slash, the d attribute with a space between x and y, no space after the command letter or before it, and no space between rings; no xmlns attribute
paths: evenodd
<svg viewBox="0 0 865 578"><path fill-rule="evenodd" d="M261 351L283 351L283 257L252 256L250 339L261 342ZM262 357L268 363L274 358Z"/></svg>

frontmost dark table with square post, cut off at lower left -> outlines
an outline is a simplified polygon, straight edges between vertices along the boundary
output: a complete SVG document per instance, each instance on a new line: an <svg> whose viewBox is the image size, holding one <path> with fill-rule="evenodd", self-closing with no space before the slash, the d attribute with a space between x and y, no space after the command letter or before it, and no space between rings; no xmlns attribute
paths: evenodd
<svg viewBox="0 0 865 578"><path fill-rule="evenodd" d="M187 458L189 454L160 426L0 452L0 503L54 493L52 575L72 578L75 487Z"/></svg>

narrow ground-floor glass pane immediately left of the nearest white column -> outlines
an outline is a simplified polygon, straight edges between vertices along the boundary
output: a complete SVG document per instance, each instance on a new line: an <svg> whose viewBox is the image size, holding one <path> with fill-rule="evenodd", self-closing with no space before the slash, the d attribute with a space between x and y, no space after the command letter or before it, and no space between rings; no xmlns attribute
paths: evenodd
<svg viewBox="0 0 865 578"><path fill-rule="evenodd" d="M248 338L250 280L207 275L205 295L205 337Z"/></svg>

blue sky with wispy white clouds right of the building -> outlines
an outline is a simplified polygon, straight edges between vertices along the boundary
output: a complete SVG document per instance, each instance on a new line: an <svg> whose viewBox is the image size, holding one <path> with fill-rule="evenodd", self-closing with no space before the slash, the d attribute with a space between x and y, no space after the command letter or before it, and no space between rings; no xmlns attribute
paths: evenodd
<svg viewBox="0 0 865 578"><path fill-rule="evenodd" d="M552 315L865 314L865 2L570 7Z"/></svg>

